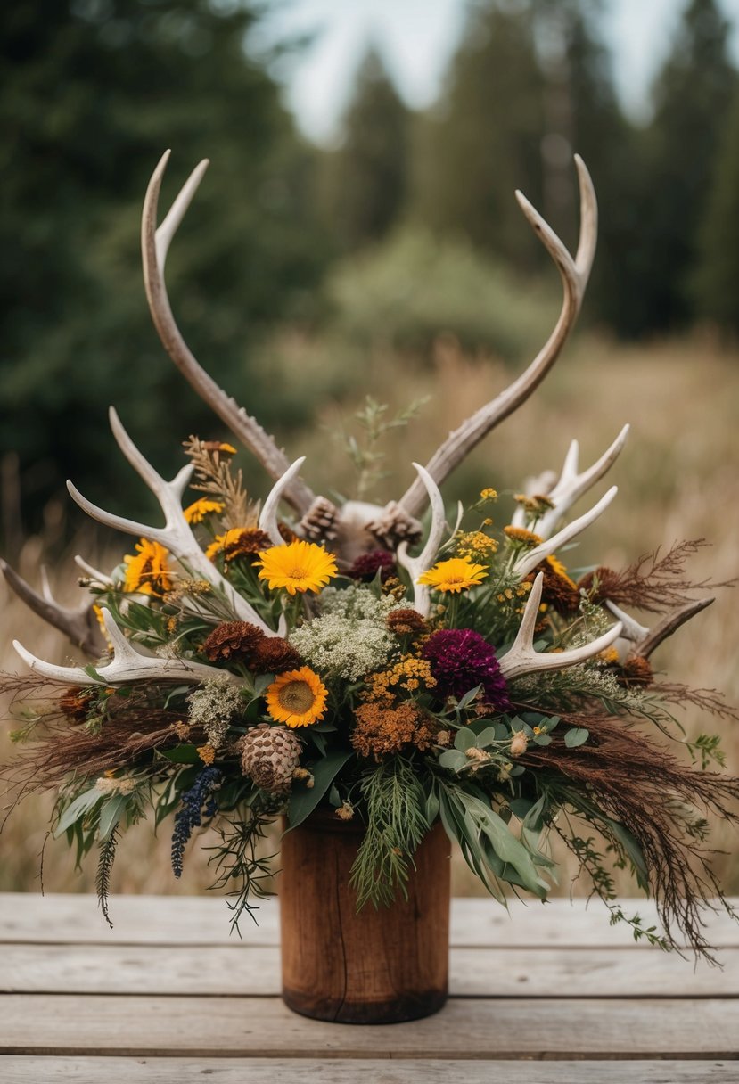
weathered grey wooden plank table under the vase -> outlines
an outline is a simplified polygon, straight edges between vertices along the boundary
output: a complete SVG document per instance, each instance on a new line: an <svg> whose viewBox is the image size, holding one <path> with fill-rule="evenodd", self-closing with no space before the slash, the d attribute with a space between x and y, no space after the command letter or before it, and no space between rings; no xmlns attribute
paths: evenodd
<svg viewBox="0 0 739 1084"><path fill-rule="evenodd" d="M513 902L509 917L455 900L446 1008L361 1028L284 1007L276 904L241 942L216 898L111 909L113 931L91 896L0 894L2 1084L739 1082L739 928L724 916L710 922L724 970L693 970L597 903Z"/></svg>

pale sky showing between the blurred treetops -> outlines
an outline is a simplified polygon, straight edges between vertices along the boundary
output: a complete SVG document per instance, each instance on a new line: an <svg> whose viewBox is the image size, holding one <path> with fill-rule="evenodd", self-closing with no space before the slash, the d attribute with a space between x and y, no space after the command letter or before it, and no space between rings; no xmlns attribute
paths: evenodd
<svg viewBox="0 0 739 1084"><path fill-rule="evenodd" d="M688 0L605 0L604 40L613 52L617 89L626 113L648 117L649 85L670 51ZM718 0L732 23L731 53L739 63L739 0ZM277 0L261 43L314 35L311 44L277 74L303 133L332 145L353 76L371 44L380 52L401 96L413 108L437 98L464 26L466 0ZM254 42L259 49L260 40Z"/></svg>

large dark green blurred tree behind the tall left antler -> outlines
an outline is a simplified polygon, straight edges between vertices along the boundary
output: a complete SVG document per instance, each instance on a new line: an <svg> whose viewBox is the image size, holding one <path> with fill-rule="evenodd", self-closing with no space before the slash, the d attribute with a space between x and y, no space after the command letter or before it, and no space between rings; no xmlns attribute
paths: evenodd
<svg viewBox="0 0 739 1084"><path fill-rule="evenodd" d="M17 450L37 506L67 476L100 501L111 486L140 494L114 451L112 401L164 472L183 437L216 426L143 298L141 202L167 146L161 212L212 159L168 261L176 315L212 375L275 417L259 374L244 393L247 348L301 304L322 245L301 209L311 162L244 53L254 24L246 5L207 0L75 0L43 17L2 5L0 454Z"/></svg>

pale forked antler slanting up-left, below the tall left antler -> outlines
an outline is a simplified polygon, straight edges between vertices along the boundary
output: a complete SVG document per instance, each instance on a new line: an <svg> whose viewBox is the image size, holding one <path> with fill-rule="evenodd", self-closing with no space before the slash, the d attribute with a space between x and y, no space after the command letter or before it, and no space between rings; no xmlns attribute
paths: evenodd
<svg viewBox="0 0 739 1084"><path fill-rule="evenodd" d="M111 427L113 435L118 442L126 459L146 482L159 502L165 514L164 527L148 527L146 524L139 524L133 519L126 519L116 516L112 512L99 508L96 504L82 496L79 490L70 481L67 481L67 489L74 501L87 512L93 519L98 519L106 527L114 527L116 530L127 534L138 534L152 539L165 546L174 557L181 560L193 571L198 572L203 579L208 580L225 595L234 612L245 621L258 625L268 636L281 635L270 629L257 611L247 603L246 598L233 589L231 583L221 576L216 566L206 557L203 550L193 534L190 524L182 512L182 493L192 473L192 466L183 467L174 479L170 482L157 474L135 447L126 429L120 423L116 412L111 408ZM282 627L282 622L281 622Z"/></svg>

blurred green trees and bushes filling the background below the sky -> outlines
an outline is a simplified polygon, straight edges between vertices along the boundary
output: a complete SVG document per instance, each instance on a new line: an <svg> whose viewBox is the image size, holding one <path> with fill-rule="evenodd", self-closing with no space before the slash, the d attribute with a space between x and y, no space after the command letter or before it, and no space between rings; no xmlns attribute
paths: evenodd
<svg viewBox="0 0 739 1084"><path fill-rule="evenodd" d="M66 476L141 512L109 402L163 470L190 431L212 434L143 300L140 206L166 146L163 205L199 158L213 159L168 264L178 321L216 379L290 447L327 396L366 389L373 347L422 369L440 334L516 365L536 349L559 287L513 191L574 244L573 150L601 207L585 325L632 340L696 324L739 331L739 80L714 0L687 0L641 126L620 107L600 4L478 0L426 112L409 109L366 55L336 150L298 133L274 55L248 49L269 8L60 0L41 17L27 0L2 7L11 557L21 522L39 528ZM286 388L278 374L296 337L316 367Z"/></svg>

